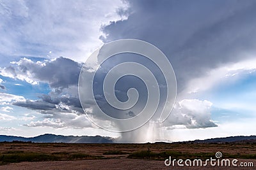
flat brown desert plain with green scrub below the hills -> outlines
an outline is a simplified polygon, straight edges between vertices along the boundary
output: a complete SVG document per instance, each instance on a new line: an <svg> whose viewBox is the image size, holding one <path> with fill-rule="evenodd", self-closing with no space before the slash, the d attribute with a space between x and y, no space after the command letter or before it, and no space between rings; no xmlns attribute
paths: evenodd
<svg viewBox="0 0 256 170"><path fill-rule="evenodd" d="M237 159L238 166L165 166L173 159ZM250 163L241 167L240 162ZM184 163L183 163L184 164ZM252 166L253 165L253 166ZM0 169L256 169L256 143L0 143Z"/></svg>

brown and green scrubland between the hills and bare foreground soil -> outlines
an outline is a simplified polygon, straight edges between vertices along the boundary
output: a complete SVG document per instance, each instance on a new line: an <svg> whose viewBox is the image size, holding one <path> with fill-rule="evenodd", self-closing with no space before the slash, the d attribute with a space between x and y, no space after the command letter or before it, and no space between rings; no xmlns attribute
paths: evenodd
<svg viewBox="0 0 256 170"><path fill-rule="evenodd" d="M86 159L208 159L214 153L232 159L256 159L256 144L68 144L68 143L1 143L0 164L10 162L86 160Z"/></svg>

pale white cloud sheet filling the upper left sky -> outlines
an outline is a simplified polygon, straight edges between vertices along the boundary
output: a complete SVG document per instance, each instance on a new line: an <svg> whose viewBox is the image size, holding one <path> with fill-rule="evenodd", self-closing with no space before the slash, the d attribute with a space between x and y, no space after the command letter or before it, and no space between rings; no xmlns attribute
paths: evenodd
<svg viewBox="0 0 256 170"><path fill-rule="evenodd" d="M118 10L127 8L120 0L1 1L1 52L84 60L102 44L102 25L124 20Z"/></svg>

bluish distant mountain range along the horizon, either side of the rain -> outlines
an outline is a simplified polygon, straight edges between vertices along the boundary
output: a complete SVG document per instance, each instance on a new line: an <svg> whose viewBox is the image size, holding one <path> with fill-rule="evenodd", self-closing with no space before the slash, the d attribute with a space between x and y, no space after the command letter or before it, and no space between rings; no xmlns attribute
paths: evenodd
<svg viewBox="0 0 256 170"><path fill-rule="evenodd" d="M31 141L34 143L115 143L115 138L103 136L62 136L55 134L43 134L33 138L0 135L0 142L3 141ZM230 136L226 138L184 141L181 143L256 143L256 136Z"/></svg>

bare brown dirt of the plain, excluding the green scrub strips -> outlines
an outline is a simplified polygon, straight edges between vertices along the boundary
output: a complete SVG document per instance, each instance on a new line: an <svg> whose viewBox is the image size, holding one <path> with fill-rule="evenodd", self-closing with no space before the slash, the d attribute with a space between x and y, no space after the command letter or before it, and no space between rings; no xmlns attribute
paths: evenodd
<svg viewBox="0 0 256 170"><path fill-rule="evenodd" d="M120 150L124 155L104 155L108 151ZM234 154L255 154L256 145L251 144L65 144L65 143L1 143L0 153L24 151L36 153L79 152L103 156L97 160L61 160L45 162L20 162L0 166L0 169L256 169L255 159L238 159L239 162L253 162L254 167L206 167L165 166L164 160L129 159L129 153L140 150L163 152L166 150L198 153L222 152ZM231 159L230 159L231 160ZM239 165L239 162L237 165Z"/></svg>

